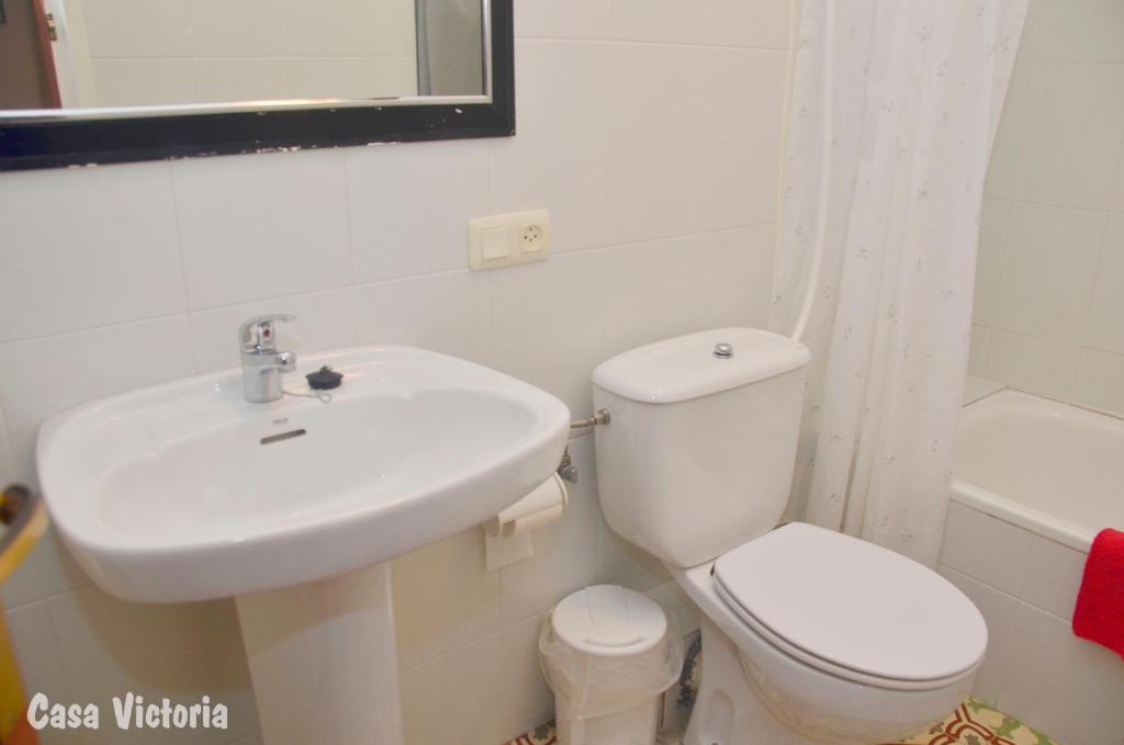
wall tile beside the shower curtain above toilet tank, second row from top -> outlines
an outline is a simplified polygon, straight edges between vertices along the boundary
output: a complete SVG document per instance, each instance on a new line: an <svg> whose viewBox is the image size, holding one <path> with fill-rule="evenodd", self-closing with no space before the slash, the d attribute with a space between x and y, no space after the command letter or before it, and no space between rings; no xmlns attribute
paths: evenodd
<svg viewBox="0 0 1124 745"><path fill-rule="evenodd" d="M608 49L616 100L606 122L614 142L607 187L620 239L772 221L785 55L676 45ZM679 93L674 106L669 89Z"/></svg>

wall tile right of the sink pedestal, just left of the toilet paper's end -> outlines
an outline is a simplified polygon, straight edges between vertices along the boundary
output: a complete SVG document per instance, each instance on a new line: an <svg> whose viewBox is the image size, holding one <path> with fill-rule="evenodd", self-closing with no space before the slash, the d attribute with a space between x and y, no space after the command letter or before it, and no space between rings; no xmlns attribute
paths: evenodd
<svg viewBox="0 0 1124 745"><path fill-rule="evenodd" d="M393 561L398 664L413 667L500 630L499 572L474 527Z"/></svg>

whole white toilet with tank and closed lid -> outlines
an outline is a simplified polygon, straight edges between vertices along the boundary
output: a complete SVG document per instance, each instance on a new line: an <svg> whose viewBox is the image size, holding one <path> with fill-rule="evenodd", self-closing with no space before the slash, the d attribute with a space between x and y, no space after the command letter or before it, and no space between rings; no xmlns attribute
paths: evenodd
<svg viewBox="0 0 1124 745"><path fill-rule="evenodd" d="M601 509L703 611L685 745L871 745L925 732L987 648L932 570L816 526L778 527L808 349L751 328L650 344L593 371Z"/></svg>

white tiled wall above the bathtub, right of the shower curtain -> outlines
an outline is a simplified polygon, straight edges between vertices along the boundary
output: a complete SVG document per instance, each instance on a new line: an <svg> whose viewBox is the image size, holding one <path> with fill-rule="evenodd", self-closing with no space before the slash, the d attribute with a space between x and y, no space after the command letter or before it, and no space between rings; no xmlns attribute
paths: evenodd
<svg viewBox="0 0 1124 745"><path fill-rule="evenodd" d="M985 196L972 373L1124 414L1124 3L1031 1Z"/></svg>

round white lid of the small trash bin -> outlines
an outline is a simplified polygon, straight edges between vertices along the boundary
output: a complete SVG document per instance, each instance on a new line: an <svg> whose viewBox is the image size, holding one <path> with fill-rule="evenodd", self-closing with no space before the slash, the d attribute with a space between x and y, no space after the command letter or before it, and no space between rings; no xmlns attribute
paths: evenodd
<svg viewBox="0 0 1124 745"><path fill-rule="evenodd" d="M647 652L668 633L659 603L615 584L574 592L554 608L551 625L564 644L598 656Z"/></svg>

